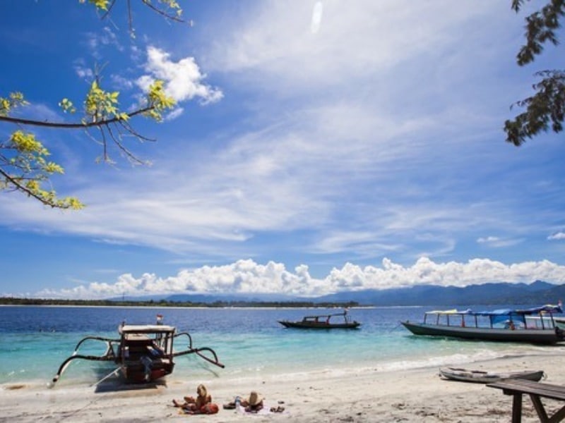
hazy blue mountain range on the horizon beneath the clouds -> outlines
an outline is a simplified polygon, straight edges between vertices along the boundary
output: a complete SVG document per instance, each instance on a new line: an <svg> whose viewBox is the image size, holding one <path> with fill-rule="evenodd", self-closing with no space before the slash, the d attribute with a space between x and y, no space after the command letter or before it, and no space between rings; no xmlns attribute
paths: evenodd
<svg viewBox="0 0 565 423"><path fill-rule="evenodd" d="M544 281L533 283L484 283L464 288L417 285L410 288L358 290L323 295L316 298L282 294L174 294L126 300L167 302L357 302L359 305L542 305L557 304L565 298L565 284ZM114 300L122 300L115 298Z"/></svg>

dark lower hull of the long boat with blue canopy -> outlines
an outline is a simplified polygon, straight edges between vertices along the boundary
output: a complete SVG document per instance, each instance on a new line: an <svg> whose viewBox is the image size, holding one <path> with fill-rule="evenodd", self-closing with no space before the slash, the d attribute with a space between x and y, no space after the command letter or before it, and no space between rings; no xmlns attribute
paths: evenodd
<svg viewBox="0 0 565 423"><path fill-rule="evenodd" d="M521 342L554 344L564 340L562 332L555 329L497 329L447 326L439 324L400 323L415 335L447 336L451 338L470 339L475 341Z"/></svg>

